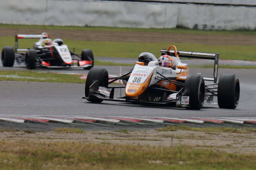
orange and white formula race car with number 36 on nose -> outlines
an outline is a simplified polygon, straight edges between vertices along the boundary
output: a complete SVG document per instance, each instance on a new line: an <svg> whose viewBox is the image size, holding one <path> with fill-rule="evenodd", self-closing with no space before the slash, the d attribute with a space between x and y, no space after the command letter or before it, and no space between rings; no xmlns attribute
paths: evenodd
<svg viewBox="0 0 256 170"><path fill-rule="evenodd" d="M172 56L175 68L158 65L158 59L150 53L140 55L133 70L120 77L109 78L105 68L92 68L85 83L85 98L96 103L110 100L200 110L204 103L214 103L213 97L217 96L220 108L236 108L240 95L239 79L235 74L222 74L217 83L218 53L177 51L170 45L167 50L162 49L161 54ZM188 65L181 63L179 57L214 60L213 77L189 75ZM109 86L119 79L125 86ZM210 83L206 84L208 81ZM125 96L114 98L116 88L125 88Z"/></svg>

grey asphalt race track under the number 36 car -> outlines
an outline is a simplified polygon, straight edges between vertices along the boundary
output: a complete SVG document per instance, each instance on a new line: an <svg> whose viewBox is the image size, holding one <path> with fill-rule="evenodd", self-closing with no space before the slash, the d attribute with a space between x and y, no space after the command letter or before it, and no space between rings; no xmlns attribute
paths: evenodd
<svg viewBox="0 0 256 170"><path fill-rule="evenodd" d="M26 70L26 68L4 68L0 70ZM104 67L109 74L118 75L119 66ZM122 66L122 74L131 67ZM83 69L49 70L65 73L87 74ZM212 76L211 68L191 68L190 74L202 73ZM84 84L12 82L0 81L1 115L88 115L88 116L196 116L196 117L256 117L256 76L250 69L219 69L223 73L237 74L240 80L241 95L236 109L221 109L218 105L204 105L200 111L167 106L136 105L125 102L104 101L101 104L87 102L84 96ZM219 77L219 76L218 76ZM124 93L122 93L124 94Z"/></svg>

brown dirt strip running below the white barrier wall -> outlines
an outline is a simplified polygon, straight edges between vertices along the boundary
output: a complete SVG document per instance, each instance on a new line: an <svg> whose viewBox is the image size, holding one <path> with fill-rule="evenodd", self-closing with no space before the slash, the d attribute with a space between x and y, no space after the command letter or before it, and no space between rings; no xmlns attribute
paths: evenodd
<svg viewBox="0 0 256 170"><path fill-rule="evenodd" d="M207 35L207 34L173 34L156 32L124 31L88 31L88 30L52 30L0 28L0 36L15 34L41 34L47 32L52 38L114 42L169 42L208 45L256 45L253 35Z"/></svg>

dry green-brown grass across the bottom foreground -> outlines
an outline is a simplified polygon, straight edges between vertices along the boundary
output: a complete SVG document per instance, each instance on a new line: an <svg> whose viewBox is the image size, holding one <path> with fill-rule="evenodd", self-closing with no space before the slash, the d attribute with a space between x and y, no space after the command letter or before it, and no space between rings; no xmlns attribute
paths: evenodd
<svg viewBox="0 0 256 170"><path fill-rule="evenodd" d="M246 170L255 154L174 147L0 140L1 170Z"/></svg>

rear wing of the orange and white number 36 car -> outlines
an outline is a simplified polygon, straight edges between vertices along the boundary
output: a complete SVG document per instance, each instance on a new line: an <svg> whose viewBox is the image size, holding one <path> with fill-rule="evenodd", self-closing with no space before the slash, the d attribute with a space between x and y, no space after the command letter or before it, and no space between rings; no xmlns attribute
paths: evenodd
<svg viewBox="0 0 256 170"><path fill-rule="evenodd" d="M167 51L166 49L161 50L161 54L166 53L175 53L174 50ZM213 71L213 78L212 77L204 77L205 80L214 81L217 83L217 76L218 76L218 53L201 53L201 52L191 52L191 51L177 51L179 57L184 58L195 58L195 59L211 59L214 60L214 71Z"/></svg>

